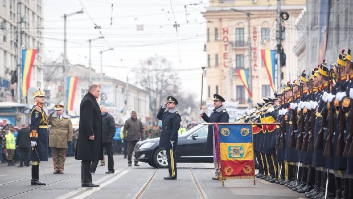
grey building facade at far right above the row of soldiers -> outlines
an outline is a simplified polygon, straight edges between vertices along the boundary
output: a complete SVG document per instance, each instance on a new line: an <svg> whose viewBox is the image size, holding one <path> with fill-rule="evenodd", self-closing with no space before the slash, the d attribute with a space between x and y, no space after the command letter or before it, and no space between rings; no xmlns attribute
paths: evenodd
<svg viewBox="0 0 353 199"><path fill-rule="evenodd" d="M298 43L293 52L300 70L312 71L323 59L337 62L342 49L353 45L353 2L350 0L310 0L295 21Z"/></svg>

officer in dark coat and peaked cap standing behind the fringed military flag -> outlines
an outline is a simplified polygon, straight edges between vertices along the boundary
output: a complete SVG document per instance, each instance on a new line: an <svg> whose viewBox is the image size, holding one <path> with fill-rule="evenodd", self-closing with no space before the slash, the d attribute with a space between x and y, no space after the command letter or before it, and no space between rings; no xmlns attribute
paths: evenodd
<svg viewBox="0 0 353 199"><path fill-rule="evenodd" d="M203 110L199 110L199 115L204 119L205 122L207 123L213 123L213 122L229 122L229 114L226 111L226 108L222 105L222 102L225 102L225 99L222 98L221 95L219 94L214 94L213 95L213 106L215 107L213 109L213 112L211 113L210 117L207 116L207 114L204 113ZM208 134L207 134L207 140L206 140L206 148L213 148L213 126L208 125ZM213 177L213 180L219 180L219 177Z"/></svg>

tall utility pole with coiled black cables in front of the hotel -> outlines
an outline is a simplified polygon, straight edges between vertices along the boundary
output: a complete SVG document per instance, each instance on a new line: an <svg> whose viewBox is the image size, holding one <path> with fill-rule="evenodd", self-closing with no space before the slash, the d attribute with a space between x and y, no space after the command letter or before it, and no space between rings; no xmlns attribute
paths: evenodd
<svg viewBox="0 0 353 199"><path fill-rule="evenodd" d="M281 25L281 0L277 0L277 93L280 92L281 88L281 51L282 46L282 25Z"/></svg>

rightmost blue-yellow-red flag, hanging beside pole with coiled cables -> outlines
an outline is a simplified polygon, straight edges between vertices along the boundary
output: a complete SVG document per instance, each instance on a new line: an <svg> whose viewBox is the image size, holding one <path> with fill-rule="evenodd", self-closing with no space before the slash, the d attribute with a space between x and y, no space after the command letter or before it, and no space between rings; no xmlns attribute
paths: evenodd
<svg viewBox="0 0 353 199"><path fill-rule="evenodd" d="M275 50L261 50L261 57L267 70L267 75L270 80L270 86L275 92L275 64L276 51Z"/></svg>

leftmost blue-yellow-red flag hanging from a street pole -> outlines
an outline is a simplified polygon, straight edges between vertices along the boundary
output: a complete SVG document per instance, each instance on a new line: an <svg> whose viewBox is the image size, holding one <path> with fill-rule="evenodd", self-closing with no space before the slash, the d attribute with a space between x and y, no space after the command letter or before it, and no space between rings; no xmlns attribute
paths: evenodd
<svg viewBox="0 0 353 199"><path fill-rule="evenodd" d="M22 50L22 96L27 96L37 49Z"/></svg>

